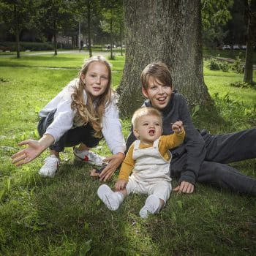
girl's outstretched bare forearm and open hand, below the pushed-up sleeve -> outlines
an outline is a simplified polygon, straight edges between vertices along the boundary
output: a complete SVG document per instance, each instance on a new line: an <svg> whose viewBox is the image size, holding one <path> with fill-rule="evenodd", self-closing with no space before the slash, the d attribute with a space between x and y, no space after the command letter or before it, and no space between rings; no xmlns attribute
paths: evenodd
<svg viewBox="0 0 256 256"><path fill-rule="evenodd" d="M54 142L52 135L43 135L39 140L23 140L18 143L19 146L27 145L26 148L18 151L18 153L12 155L12 164L17 166L27 164L33 159L38 157L42 151L45 151L48 146Z"/></svg>

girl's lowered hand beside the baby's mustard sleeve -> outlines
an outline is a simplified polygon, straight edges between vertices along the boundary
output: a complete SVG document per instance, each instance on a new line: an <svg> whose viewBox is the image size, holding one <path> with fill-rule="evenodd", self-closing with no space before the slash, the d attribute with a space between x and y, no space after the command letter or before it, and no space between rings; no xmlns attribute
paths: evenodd
<svg viewBox="0 0 256 256"><path fill-rule="evenodd" d="M104 162L108 162L108 165L102 170L102 173L99 174L99 181L108 181L119 165L121 165L124 157L125 155L123 153L117 153L113 154L111 157L106 157Z"/></svg>

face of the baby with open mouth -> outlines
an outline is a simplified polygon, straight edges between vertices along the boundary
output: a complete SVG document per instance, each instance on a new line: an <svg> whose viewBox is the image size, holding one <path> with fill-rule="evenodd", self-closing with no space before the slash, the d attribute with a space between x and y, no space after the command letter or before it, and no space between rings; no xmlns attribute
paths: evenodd
<svg viewBox="0 0 256 256"><path fill-rule="evenodd" d="M142 143L151 144L162 135L161 119L158 116L142 116L133 132Z"/></svg>

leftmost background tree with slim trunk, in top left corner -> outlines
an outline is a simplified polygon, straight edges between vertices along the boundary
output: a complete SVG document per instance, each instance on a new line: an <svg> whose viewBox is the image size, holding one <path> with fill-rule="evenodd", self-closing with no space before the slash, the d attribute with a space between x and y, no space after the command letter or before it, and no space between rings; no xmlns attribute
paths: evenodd
<svg viewBox="0 0 256 256"><path fill-rule="evenodd" d="M1 20L15 35L16 55L20 58L20 32L22 29L31 29L36 24L39 1L15 0L0 1Z"/></svg>

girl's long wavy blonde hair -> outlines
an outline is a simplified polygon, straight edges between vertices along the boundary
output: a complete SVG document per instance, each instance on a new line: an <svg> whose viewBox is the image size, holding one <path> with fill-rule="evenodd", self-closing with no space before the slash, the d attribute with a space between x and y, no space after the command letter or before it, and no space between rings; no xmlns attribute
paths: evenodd
<svg viewBox="0 0 256 256"><path fill-rule="evenodd" d="M92 62L97 61L103 63L108 68L108 86L103 94L97 97L97 100L92 99L91 94L86 93L87 102L84 102L83 91L85 85L83 83L82 77L86 75L89 66ZM110 104L113 91L111 89L111 68L110 63L102 56L93 56L87 59L83 64L82 69L79 72L78 86L72 94L71 108L77 110L75 118L79 119L79 122L83 122L83 125L91 124L95 130L94 137L102 137L102 116L105 113L105 108Z"/></svg>

